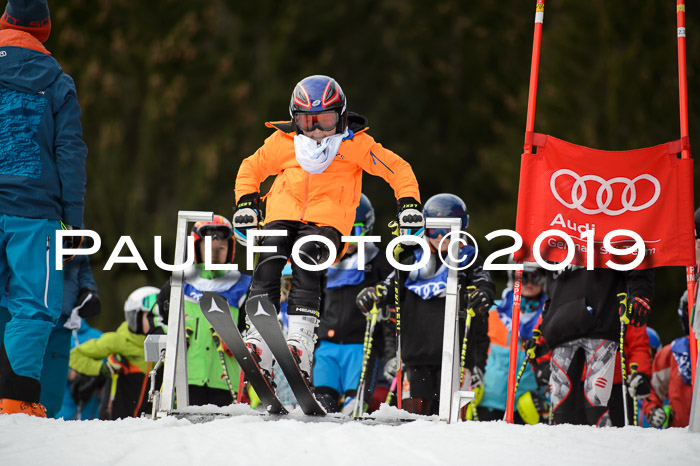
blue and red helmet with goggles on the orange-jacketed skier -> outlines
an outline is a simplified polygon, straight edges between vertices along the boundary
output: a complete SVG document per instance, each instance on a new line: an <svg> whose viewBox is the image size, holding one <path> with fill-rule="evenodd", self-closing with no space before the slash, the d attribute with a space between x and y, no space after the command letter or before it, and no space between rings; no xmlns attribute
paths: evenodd
<svg viewBox="0 0 700 466"><path fill-rule="evenodd" d="M343 133L348 125L347 99L335 79L323 75L314 75L302 79L294 87L292 99L289 102L289 115L297 134L312 131L319 127L324 131L331 128L326 123L316 119L315 114L335 110L336 133ZM306 127L298 119L306 119Z"/></svg>

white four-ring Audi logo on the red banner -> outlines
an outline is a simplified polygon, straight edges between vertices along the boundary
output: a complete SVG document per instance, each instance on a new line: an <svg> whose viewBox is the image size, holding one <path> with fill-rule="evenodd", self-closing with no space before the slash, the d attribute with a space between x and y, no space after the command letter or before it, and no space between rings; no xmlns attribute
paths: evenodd
<svg viewBox="0 0 700 466"><path fill-rule="evenodd" d="M557 178L559 178L560 176L570 176L575 180L574 184L571 186L571 202L565 201L558 192L556 181ZM651 199L649 199L647 202L640 205L635 205L635 203L637 202L636 186L637 182L641 180L646 180L652 185L654 185L654 195L651 196ZM588 187L586 186L587 182L598 183L600 185L595 195L595 202L597 207L596 209L589 209L583 206L583 204L588 199ZM622 208L620 209L608 208L613 201L613 185L615 184L624 185L624 189L621 192L620 202L614 204L621 205ZM606 180L596 175L580 176L575 171L568 170L566 168L557 170L554 172L554 174L552 174L552 178L550 178L549 180L549 187L552 190L552 194L554 195L556 200L559 201L562 205L568 207L569 209L576 209L579 212L587 215L596 215L602 213L614 216L624 214L628 211L636 212L639 210L644 210L654 205L654 203L659 199L659 196L661 195L661 183L659 183L659 180L657 180L651 175L639 175L633 180L630 180L629 178L624 178L622 176L616 176L615 178Z"/></svg>

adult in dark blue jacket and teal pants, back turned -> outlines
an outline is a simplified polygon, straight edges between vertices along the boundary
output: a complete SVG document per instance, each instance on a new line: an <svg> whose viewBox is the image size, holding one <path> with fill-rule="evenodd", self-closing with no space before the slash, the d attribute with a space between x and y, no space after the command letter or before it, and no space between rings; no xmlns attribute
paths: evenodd
<svg viewBox="0 0 700 466"><path fill-rule="evenodd" d="M61 316L56 231L83 226L87 156L73 79L42 44L50 31L46 0L7 2L0 18L0 289L9 283L11 318L0 335L0 413L40 417L44 354Z"/></svg>

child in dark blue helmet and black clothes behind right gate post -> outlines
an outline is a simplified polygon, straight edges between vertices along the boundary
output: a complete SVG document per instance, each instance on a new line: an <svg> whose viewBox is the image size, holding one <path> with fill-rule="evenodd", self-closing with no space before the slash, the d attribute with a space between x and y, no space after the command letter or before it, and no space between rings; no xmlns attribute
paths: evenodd
<svg viewBox="0 0 700 466"><path fill-rule="evenodd" d="M467 207L454 194L437 194L428 199L423 208L425 218L457 217L462 219L462 228L469 225ZM401 358L405 367L409 390L402 394L404 409L418 414L436 414L440 402L440 370L442 365L442 342L445 319L445 297L448 268L447 248L450 241L442 241L447 231L426 229L430 245L430 260L419 270L400 274L401 291ZM440 244L442 241L442 244ZM410 265L423 257L420 247L402 248L398 253L399 262ZM493 303L495 287L491 276L483 268L483 259L474 257L476 250L471 245L463 246L460 252L465 266L472 259L471 266L460 270L460 341L464 337L464 322L467 309L475 311L468 334L468 348L465 358L465 384L472 389L483 385L483 373L489 348L487 314ZM442 259L442 260L441 260ZM362 290L357 296L357 305L363 312L369 312L374 303L378 306L394 302L395 288L393 274L382 283ZM395 319L391 319L392 333L395 333ZM384 375L391 380L396 375L396 340L385 342ZM400 387L402 384L398 384ZM401 390L399 390L401 391Z"/></svg>

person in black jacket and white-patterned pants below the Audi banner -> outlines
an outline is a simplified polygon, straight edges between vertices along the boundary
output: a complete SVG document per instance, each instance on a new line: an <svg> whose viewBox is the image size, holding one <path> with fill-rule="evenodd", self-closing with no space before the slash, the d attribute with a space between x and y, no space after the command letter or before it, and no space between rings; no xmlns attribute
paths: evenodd
<svg viewBox="0 0 700 466"><path fill-rule="evenodd" d="M654 296L654 270L620 272L569 265L547 273L545 292L539 325L543 337L532 338L525 346L537 357L552 350L554 422L611 426L608 402L620 321L635 327L646 324Z"/></svg>

